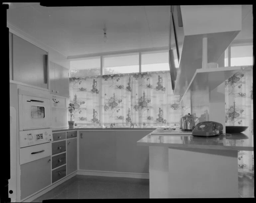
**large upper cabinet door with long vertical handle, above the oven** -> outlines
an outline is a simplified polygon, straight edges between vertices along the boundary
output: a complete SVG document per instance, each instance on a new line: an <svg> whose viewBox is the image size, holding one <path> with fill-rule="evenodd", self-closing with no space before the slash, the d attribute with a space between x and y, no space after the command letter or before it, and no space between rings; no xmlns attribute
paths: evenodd
<svg viewBox="0 0 256 203"><path fill-rule="evenodd" d="M48 89L47 52L13 35L13 80Z"/></svg>

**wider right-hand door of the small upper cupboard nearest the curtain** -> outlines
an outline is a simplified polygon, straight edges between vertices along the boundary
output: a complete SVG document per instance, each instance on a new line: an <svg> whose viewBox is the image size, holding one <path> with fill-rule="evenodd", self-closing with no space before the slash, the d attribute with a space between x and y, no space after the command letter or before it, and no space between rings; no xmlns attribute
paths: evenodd
<svg viewBox="0 0 256 203"><path fill-rule="evenodd" d="M69 97L69 70L55 63L55 94Z"/></svg>

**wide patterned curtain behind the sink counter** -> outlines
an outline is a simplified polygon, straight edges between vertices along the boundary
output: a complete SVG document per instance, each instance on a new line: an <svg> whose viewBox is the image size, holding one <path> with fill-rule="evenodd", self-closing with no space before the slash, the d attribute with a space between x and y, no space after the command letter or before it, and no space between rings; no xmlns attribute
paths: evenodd
<svg viewBox="0 0 256 203"><path fill-rule="evenodd" d="M69 79L76 126L179 125L184 107L173 95L170 71Z"/></svg>

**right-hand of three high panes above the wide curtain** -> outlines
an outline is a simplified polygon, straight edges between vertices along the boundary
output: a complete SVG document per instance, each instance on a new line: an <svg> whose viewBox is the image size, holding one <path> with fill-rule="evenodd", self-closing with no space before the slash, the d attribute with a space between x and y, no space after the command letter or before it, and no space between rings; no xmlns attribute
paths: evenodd
<svg viewBox="0 0 256 203"><path fill-rule="evenodd" d="M161 70L170 70L168 51L141 53L141 72Z"/></svg>

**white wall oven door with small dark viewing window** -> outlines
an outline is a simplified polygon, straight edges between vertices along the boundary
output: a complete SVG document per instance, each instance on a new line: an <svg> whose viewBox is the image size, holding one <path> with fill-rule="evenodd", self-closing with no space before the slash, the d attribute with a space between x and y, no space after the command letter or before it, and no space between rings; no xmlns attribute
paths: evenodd
<svg viewBox="0 0 256 203"><path fill-rule="evenodd" d="M19 95L20 131L50 128L50 108L50 99Z"/></svg>

